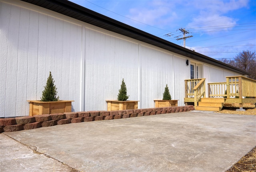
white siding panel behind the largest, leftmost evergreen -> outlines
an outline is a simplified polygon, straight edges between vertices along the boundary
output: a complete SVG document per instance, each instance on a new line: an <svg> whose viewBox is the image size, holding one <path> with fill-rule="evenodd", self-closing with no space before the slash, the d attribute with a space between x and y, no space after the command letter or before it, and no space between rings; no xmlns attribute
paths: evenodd
<svg viewBox="0 0 256 172"><path fill-rule="evenodd" d="M82 26L0 2L0 117L28 115L49 71L60 99L80 109Z"/></svg>

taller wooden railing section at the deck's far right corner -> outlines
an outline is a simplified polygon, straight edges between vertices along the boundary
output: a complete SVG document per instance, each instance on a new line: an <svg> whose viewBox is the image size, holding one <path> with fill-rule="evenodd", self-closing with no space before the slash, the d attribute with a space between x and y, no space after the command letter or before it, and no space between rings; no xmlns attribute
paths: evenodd
<svg viewBox="0 0 256 172"><path fill-rule="evenodd" d="M226 77L227 98L256 97L256 80L243 76Z"/></svg>

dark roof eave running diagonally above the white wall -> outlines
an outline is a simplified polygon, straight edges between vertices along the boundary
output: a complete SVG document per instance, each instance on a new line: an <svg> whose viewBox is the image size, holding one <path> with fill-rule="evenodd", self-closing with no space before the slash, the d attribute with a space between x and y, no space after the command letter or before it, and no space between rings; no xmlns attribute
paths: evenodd
<svg viewBox="0 0 256 172"><path fill-rule="evenodd" d="M35 4L37 6L41 6L43 8L47 8L49 10L58 12L60 14L69 16L71 18L75 18L82 22L86 22L92 24L94 26L98 26L100 28L128 36L130 38L149 43L151 45L155 45L157 47L166 49L168 51L172 51L174 53L178 53L180 55L184 55L186 57L190 57L192 59L202 61L204 63L208 63L214 66L218 66L236 73L240 73L242 75L249 75L249 73L237 69L236 67L227 65L226 63L222 63L216 59L210 58L206 55L202 55L190 49L186 49L181 47L180 45L176 45L175 43L168 42L162 38L158 38L154 35L148 34L142 30L136 29L132 26L124 24L122 22L118 22L112 18L84 8L78 4L74 4L68 0L22 0L31 4Z"/></svg>

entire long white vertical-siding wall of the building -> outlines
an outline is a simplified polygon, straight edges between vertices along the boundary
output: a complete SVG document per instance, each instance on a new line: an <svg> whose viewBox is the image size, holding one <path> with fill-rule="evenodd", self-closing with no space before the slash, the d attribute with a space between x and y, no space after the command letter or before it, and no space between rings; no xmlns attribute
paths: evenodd
<svg viewBox="0 0 256 172"><path fill-rule="evenodd" d="M122 78L139 108L154 107L166 84L182 106L190 78L188 57L16 0L0 0L0 50L0 117L28 115L27 100L40 100L49 71L72 111L107 110ZM207 82L232 75L202 67Z"/></svg>

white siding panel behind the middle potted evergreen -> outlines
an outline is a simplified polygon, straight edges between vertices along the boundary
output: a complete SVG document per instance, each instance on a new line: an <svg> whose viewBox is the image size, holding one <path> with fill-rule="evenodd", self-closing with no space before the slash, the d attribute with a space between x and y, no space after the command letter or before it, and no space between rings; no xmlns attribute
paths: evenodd
<svg viewBox="0 0 256 172"><path fill-rule="evenodd" d="M128 100L138 100L138 43L86 28L85 111L107 110L124 78Z"/></svg>

